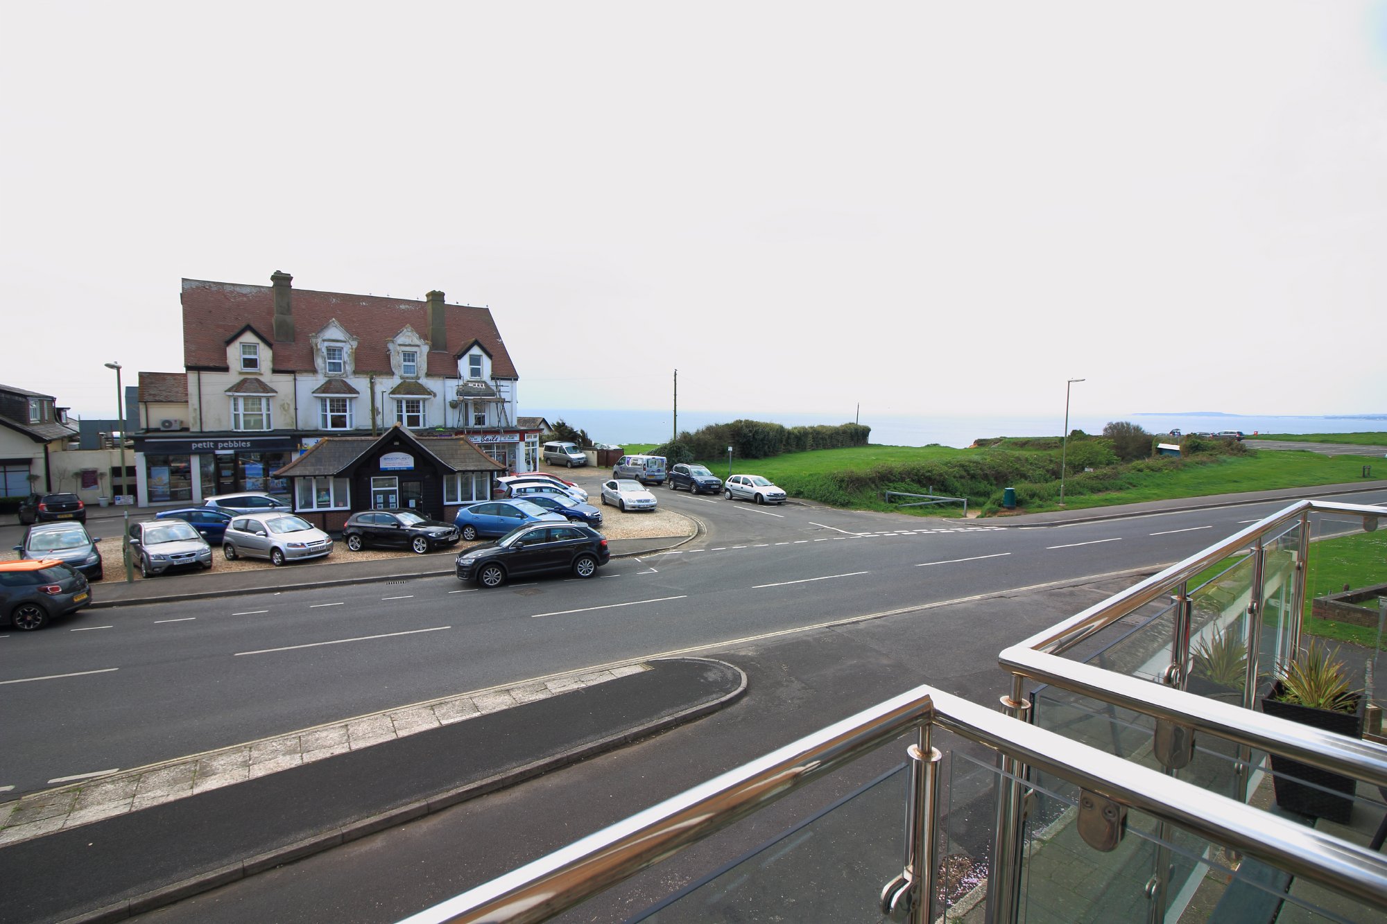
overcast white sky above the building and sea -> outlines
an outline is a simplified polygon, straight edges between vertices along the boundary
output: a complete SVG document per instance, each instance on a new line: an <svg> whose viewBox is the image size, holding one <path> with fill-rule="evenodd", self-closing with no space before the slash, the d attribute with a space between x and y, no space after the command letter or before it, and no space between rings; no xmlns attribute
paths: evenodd
<svg viewBox="0 0 1387 924"><path fill-rule="evenodd" d="M0 10L0 382L85 416L275 269L528 413L1387 412L1383 3Z"/></svg>

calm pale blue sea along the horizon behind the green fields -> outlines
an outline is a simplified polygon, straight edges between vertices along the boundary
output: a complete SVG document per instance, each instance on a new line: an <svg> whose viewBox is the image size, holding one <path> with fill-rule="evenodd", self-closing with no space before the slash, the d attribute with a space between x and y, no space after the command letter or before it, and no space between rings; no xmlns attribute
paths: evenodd
<svg viewBox="0 0 1387 924"><path fill-rule="evenodd" d="M669 411L585 411L581 408L524 408L526 415L544 416L551 423L562 419L571 427L587 430L598 443L663 443L670 438L673 419ZM852 423L852 416L831 413L739 413L734 411L680 411L680 430L698 430L709 423L727 423L739 418L770 420L785 426L816 423ZM1205 413L1129 413L1125 416L1069 415L1069 429L1101 433L1111 420L1130 420L1151 433L1180 429L1186 433L1241 430L1243 433L1355 433L1387 430L1387 415L1363 418L1290 418ZM882 445L965 447L974 440L999 436L1060 436L1064 415L1033 416L890 416L863 413L861 423L871 427L871 441Z"/></svg>

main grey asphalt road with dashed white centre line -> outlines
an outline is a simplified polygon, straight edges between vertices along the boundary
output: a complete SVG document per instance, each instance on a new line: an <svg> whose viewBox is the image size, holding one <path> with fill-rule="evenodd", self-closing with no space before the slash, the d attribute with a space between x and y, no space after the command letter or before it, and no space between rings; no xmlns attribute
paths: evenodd
<svg viewBox="0 0 1387 924"><path fill-rule="evenodd" d="M1164 565L1283 506L1028 529L659 497L707 533L585 581L488 591L416 579L85 610L0 635L0 787L24 794L467 690Z"/></svg>

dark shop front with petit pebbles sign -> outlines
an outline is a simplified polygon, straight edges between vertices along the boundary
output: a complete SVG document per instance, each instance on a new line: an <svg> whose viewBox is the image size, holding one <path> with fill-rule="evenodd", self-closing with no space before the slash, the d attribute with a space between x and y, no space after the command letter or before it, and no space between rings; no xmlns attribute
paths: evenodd
<svg viewBox="0 0 1387 924"><path fill-rule="evenodd" d="M276 477L300 450L293 436L135 438L136 502L201 504L214 494L264 491L288 499L288 481Z"/></svg>

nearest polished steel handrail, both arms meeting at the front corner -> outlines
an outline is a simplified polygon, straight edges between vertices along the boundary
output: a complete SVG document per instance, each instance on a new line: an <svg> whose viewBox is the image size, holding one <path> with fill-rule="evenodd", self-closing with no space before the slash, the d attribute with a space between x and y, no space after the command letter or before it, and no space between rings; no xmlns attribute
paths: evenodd
<svg viewBox="0 0 1387 924"><path fill-rule="evenodd" d="M958 696L915 687L405 924L544 920L931 720L1086 791L1387 910L1387 857Z"/></svg>

